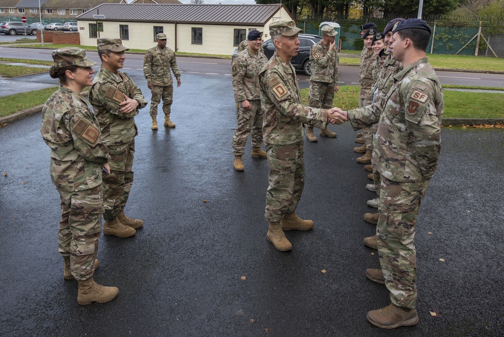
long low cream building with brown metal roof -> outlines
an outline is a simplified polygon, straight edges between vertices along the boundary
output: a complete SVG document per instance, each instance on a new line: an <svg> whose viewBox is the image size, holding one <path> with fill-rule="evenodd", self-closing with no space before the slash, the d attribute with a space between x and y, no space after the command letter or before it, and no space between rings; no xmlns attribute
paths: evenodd
<svg viewBox="0 0 504 337"><path fill-rule="evenodd" d="M97 37L119 37L128 48L148 49L156 45L156 34L164 33L174 51L221 55L233 53L248 27L257 27L268 39L270 23L282 20L293 18L280 4L102 4L77 17L82 45L96 45ZM97 21L103 23L101 33Z"/></svg>

